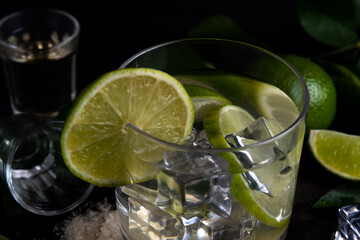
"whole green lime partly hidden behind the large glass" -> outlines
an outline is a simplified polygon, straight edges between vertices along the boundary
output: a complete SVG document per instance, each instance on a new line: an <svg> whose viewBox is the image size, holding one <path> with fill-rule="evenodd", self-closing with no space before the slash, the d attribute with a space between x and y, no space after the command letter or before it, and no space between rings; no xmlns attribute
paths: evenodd
<svg viewBox="0 0 360 240"><path fill-rule="evenodd" d="M285 54L282 57L293 65L304 78L310 94L310 106L306 126L310 129L326 129L336 113L336 89L329 74L308 58Z"/></svg>

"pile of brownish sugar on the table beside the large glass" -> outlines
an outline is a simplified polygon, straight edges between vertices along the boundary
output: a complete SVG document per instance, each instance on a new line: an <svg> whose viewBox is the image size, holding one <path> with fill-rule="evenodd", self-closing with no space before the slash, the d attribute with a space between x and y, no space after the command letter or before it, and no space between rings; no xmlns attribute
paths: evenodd
<svg viewBox="0 0 360 240"><path fill-rule="evenodd" d="M122 240L114 207L106 200L96 203L84 214L74 213L63 226L55 227L61 240Z"/></svg>

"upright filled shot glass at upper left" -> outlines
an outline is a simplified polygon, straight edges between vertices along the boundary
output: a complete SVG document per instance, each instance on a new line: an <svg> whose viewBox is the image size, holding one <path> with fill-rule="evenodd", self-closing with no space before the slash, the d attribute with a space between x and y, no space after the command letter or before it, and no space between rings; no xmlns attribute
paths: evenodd
<svg viewBox="0 0 360 240"><path fill-rule="evenodd" d="M0 21L0 55L13 113L54 116L76 96L80 26L53 9L15 12Z"/></svg>

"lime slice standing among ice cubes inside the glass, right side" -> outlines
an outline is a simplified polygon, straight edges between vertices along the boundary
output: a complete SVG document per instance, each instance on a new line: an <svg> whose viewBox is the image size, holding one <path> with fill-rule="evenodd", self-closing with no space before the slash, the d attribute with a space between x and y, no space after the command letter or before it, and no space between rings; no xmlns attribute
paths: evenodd
<svg viewBox="0 0 360 240"><path fill-rule="evenodd" d="M227 105L209 110L204 118L204 127L209 141L214 147L230 148L230 145L225 140L225 136L243 130L254 121L254 118L241 107ZM279 131L279 126L276 126L273 122L268 126L273 128L270 130L274 132ZM278 181L279 179L274 177L274 170L281 169L285 165L283 161L275 161L270 166L250 170L252 174L255 174L265 182L270 189L270 193L275 193L272 196L251 189L249 182L245 179L245 170L234 153L226 152L220 155L229 161L229 172L233 173L231 193L239 203L266 225L278 228L286 226L290 220L292 208L292 205L289 204L292 202L290 198L293 197L292 194L288 194L288 191L291 191L292 188L287 188L287 186L291 182L295 184L293 178L296 171L282 176L281 179L279 178L280 181Z"/></svg>

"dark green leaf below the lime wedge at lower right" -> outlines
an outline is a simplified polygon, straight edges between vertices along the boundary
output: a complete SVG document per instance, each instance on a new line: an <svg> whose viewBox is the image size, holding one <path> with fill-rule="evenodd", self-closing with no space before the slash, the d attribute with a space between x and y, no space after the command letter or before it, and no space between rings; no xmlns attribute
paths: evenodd
<svg viewBox="0 0 360 240"><path fill-rule="evenodd" d="M360 203L360 182L349 182L326 193L313 207L341 207L357 203Z"/></svg>

